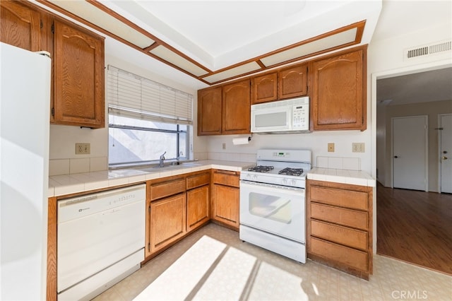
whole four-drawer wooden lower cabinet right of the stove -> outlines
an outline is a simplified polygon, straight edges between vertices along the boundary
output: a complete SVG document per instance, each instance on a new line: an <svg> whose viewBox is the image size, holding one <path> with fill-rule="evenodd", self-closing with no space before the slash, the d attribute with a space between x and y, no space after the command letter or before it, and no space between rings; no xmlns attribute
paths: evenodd
<svg viewBox="0 0 452 301"><path fill-rule="evenodd" d="M308 258L369 280L372 187L307 181Z"/></svg>

